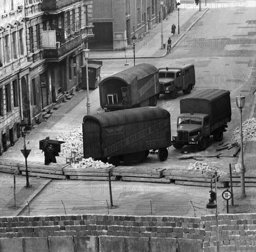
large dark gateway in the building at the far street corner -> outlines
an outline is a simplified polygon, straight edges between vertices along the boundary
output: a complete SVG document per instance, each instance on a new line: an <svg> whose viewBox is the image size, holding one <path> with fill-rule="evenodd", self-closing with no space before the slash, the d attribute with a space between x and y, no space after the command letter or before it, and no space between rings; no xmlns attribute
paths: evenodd
<svg viewBox="0 0 256 252"><path fill-rule="evenodd" d="M89 49L112 50L113 49L113 23L93 23L94 42L89 43Z"/></svg>

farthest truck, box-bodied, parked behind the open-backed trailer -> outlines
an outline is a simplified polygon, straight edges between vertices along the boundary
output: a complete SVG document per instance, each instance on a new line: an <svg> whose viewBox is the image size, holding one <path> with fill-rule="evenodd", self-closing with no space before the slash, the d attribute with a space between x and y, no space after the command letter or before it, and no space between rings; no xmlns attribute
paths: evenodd
<svg viewBox="0 0 256 252"><path fill-rule="evenodd" d="M160 93L169 93L173 99L178 91L188 94L195 86L195 66L193 64L170 64L158 69Z"/></svg>

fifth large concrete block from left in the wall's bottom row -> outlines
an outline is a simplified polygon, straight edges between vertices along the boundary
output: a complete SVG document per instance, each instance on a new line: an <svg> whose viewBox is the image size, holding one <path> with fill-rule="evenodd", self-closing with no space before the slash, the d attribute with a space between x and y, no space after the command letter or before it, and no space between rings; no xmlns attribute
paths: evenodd
<svg viewBox="0 0 256 252"><path fill-rule="evenodd" d="M123 252L125 251L124 237L100 236L100 252Z"/></svg>

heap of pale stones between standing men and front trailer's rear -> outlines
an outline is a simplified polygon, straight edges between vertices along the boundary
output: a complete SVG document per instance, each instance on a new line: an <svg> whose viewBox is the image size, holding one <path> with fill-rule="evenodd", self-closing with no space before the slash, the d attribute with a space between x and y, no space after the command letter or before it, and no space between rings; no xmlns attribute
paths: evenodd
<svg viewBox="0 0 256 252"><path fill-rule="evenodd" d="M83 131L82 126L79 126L72 131L61 133L56 137L58 141L64 141L61 144L61 157L69 157L71 151L76 152L76 159L83 158Z"/></svg>

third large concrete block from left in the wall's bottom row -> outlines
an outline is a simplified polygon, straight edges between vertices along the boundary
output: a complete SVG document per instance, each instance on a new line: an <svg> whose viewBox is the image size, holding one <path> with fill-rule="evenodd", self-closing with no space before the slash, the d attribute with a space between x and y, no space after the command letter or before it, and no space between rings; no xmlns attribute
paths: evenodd
<svg viewBox="0 0 256 252"><path fill-rule="evenodd" d="M74 242L72 236L55 236L49 237L49 251L50 252L75 252Z"/></svg>

